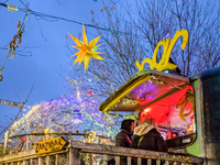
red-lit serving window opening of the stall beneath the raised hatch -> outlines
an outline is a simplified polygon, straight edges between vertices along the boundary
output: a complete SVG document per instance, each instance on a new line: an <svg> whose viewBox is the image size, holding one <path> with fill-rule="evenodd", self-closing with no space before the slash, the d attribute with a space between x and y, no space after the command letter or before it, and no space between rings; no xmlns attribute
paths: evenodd
<svg viewBox="0 0 220 165"><path fill-rule="evenodd" d="M143 101L139 103L143 103ZM193 87L186 85L182 89L143 108L139 113L139 118L140 123L145 119L153 118L165 141L180 138L182 146L185 143L191 143L190 135L195 135L196 132Z"/></svg>

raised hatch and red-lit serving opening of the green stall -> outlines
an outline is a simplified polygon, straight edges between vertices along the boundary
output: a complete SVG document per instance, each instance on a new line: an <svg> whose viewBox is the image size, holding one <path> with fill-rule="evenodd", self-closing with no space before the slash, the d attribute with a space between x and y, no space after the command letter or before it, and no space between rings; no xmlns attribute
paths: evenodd
<svg viewBox="0 0 220 165"><path fill-rule="evenodd" d="M139 123L153 118L167 142L195 133L194 89L188 78L178 75L141 70L103 101L99 110L134 111Z"/></svg>

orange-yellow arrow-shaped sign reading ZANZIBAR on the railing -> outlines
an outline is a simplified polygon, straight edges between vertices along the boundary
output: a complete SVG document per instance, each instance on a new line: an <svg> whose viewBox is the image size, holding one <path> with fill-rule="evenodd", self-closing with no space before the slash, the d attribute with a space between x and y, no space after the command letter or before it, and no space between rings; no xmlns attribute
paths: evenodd
<svg viewBox="0 0 220 165"><path fill-rule="evenodd" d="M61 136L47 141L37 142L34 144L35 154L61 151L66 144L67 142Z"/></svg>

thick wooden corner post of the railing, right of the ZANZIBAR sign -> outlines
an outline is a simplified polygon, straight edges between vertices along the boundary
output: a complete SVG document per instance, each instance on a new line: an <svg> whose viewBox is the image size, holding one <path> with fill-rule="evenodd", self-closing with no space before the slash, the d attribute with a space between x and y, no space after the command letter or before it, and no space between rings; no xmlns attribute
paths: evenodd
<svg viewBox="0 0 220 165"><path fill-rule="evenodd" d="M80 148L69 148L68 165L80 165Z"/></svg>

